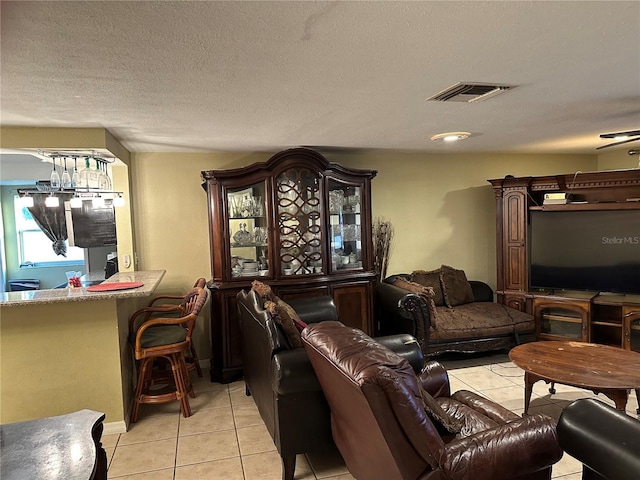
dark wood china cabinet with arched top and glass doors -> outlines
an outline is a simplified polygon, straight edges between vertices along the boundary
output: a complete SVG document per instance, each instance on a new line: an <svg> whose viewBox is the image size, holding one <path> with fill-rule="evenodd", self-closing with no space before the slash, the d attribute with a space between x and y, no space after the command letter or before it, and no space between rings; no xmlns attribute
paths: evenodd
<svg viewBox="0 0 640 480"><path fill-rule="evenodd" d="M236 294L253 280L283 300L331 295L343 323L373 335L373 170L292 148L202 172L211 249L211 380L242 373Z"/></svg>

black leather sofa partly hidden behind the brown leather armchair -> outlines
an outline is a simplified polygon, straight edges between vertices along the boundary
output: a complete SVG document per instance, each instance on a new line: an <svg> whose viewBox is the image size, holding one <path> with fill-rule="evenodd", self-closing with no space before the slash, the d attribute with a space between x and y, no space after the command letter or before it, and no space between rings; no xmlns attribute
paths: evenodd
<svg viewBox="0 0 640 480"><path fill-rule="evenodd" d="M338 318L329 296L287 303L308 324ZM237 305L247 395L253 397L282 458L282 478L291 480L297 454L335 450L329 405L304 348L290 347L256 292L239 292ZM415 338L394 335L379 340L420 371L424 358Z"/></svg>

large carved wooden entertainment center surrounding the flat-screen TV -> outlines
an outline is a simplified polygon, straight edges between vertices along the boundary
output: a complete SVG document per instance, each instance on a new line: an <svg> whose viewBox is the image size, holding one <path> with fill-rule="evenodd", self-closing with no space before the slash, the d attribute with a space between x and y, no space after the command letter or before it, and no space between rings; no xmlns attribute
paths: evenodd
<svg viewBox="0 0 640 480"><path fill-rule="evenodd" d="M496 198L497 300L536 317L539 339L576 340L640 351L640 292L534 291L529 284L533 211L640 211L640 170L489 180ZM545 204L545 194L571 201ZM640 275L640 271L638 272Z"/></svg>

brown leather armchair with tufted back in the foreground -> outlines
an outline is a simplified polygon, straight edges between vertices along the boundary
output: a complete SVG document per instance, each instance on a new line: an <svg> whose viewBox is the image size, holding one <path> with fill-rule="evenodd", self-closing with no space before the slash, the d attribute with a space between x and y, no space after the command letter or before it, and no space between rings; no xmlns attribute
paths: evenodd
<svg viewBox="0 0 640 480"><path fill-rule="evenodd" d="M336 445L358 480L551 478L551 465L562 456L551 418L521 418L464 390L451 395L439 363L416 375L402 358L340 322L309 325L302 338L331 407ZM444 422L426 413L427 397ZM443 430L447 422L458 430Z"/></svg>

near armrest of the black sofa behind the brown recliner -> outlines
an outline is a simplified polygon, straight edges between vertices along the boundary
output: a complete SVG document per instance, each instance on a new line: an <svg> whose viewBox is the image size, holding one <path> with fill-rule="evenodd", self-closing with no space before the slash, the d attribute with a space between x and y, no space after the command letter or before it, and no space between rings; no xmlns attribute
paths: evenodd
<svg viewBox="0 0 640 480"><path fill-rule="evenodd" d="M273 355L271 386L279 395L322 390L304 348L283 350Z"/></svg>

